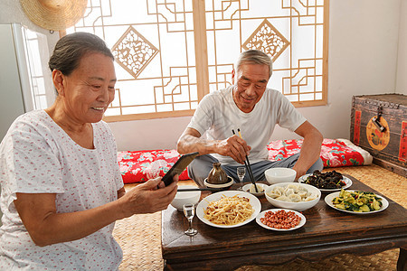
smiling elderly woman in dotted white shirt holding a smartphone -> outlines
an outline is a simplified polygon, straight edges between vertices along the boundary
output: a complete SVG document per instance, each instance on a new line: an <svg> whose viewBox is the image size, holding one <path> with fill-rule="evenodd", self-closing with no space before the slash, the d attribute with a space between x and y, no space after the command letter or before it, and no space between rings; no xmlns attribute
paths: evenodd
<svg viewBox="0 0 407 271"><path fill-rule="evenodd" d="M125 192L113 135L101 121L116 83L102 40L69 34L49 66L54 104L18 117L0 145L0 269L115 270L122 259L115 220L165 210L178 177Z"/></svg>

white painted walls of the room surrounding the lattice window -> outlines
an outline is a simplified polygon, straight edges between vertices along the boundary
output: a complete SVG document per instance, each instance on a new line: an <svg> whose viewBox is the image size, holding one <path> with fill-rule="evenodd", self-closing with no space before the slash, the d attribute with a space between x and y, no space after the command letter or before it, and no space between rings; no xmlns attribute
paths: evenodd
<svg viewBox="0 0 407 271"><path fill-rule="evenodd" d="M406 93L406 2L330 0L328 104L298 108L325 137L349 138L352 96ZM20 1L2 0L0 23L12 22L46 33L50 48L58 39L58 33L51 34L31 23L21 10ZM171 117L115 122L109 126L118 150L175 148L189 119ZM288 138L298 137L276 127L272 139Z"/></svg>

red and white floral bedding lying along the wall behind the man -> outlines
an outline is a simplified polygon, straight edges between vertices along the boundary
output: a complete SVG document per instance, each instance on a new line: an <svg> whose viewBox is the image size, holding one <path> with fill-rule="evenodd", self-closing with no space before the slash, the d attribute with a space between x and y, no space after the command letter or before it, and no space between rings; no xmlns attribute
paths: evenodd
<svg viewBox="0 0 407 271"><path fill-rule="evenodd" d="M269 159L279 161L292 154L297 154L302 140L276 140L267 146ZM180 154L175 150L147 150L137 152L118 152L118 165L124 183L146 182L148 179L164 176L175 164ZM339 167L365 164L364 156L344 142L324 139L321 148L324 167ZM180 180L190 179L186 170L179 176Z"/></svg>

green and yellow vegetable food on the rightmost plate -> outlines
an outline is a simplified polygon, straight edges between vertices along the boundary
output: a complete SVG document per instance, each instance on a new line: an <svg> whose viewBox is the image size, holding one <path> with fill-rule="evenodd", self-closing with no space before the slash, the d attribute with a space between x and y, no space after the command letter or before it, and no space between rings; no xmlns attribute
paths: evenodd
<svg viewBox="0 0 407 271"><path fill-rule="evenodd" d="M332 203L338 209L357 212L380 210L383 206L382 199L374 192L347 192L343 189L339 192L339 197L332 200Z"/></svg>

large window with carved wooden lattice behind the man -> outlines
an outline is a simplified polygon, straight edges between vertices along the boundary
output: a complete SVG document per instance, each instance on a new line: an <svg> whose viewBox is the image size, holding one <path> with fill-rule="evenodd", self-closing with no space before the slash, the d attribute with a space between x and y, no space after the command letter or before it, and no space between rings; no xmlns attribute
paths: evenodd
<svg viewBox="0 0 407 271"><path fill-rule="evenodd" d="M190 116L232 84L241 51L273 60L269 87L295 106L327 103L328 0L90 0L72 32L104 39L116 58L105 120Z"/></svg>

